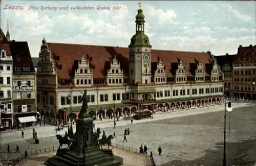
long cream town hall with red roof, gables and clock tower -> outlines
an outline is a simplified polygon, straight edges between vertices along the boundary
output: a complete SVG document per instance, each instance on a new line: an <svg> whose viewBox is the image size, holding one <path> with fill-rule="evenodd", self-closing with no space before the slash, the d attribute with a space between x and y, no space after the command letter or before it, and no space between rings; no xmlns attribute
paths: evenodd
<svg viewBox="0 0 256 166"><path fill-rule="evenodd" d="M37 107L44 121L67 124L75 119L83 89L96 120L142 108L158 112L223 101L223 74L210 52L152 50L142 9L135 22L129 48L42 40Z"/></svg>

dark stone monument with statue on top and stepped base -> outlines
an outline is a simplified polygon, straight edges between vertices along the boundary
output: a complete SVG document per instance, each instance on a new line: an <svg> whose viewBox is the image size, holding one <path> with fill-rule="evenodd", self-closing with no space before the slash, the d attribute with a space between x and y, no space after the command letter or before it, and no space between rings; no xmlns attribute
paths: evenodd
<svg viewBox="0 0 256 166"><path fill-rule="evenodd" d="M66 149L58 149L56 156L49 158L48 166L118 166L123 159L113 155L112 150L101 150L93 133L93 120L88 113L87 91L84 90L82 108L76 120L73 143Z"/></svg>

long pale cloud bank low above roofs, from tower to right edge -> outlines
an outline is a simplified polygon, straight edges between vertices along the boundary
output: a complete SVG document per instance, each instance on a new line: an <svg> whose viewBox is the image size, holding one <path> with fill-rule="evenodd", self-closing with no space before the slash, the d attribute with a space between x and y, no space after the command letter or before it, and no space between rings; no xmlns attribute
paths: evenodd
<svg viewBox="0 0 256 166"><path fill-rule="evenodd" d="M215 38L210 35L187 36L161 36L160 42L153 43L161 49L203 52L211 50L214 55L236 54L240 44L255 43L254 36ZM160 44L159 44L160 43Z"/></svg>

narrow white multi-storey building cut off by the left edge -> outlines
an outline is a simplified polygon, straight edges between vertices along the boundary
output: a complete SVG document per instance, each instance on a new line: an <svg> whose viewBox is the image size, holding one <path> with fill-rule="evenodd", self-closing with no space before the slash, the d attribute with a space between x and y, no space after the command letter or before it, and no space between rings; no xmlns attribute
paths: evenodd
<svg viewBox="0 0 256 166"><path fill-rule="evenodd" d="M0 29L0 125L10 128L13 124L13 108L12 108L12 56L9 44L9 30L7 30L7 38Z"/></svg>

